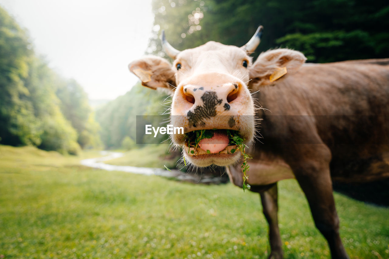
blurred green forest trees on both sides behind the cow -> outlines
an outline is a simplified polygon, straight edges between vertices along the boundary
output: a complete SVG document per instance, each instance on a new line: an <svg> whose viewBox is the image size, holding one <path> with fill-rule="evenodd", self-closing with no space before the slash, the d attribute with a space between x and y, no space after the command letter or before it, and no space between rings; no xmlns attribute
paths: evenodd
<svg viewBox="0 0 389 259"><path fill-rule="evenodd" d="M209 40L242 46L263 25L254 57L277 47L301 51L314 63L389 57L389 5L383 0L153 0L152 11L145 54L165 57L161 30L183 50ZM168 103L166 94L137 84L94 112L82 86L51 70L28 32L0 8L0 144L70 154L133 147L136 116L159 115Z"/></svg>

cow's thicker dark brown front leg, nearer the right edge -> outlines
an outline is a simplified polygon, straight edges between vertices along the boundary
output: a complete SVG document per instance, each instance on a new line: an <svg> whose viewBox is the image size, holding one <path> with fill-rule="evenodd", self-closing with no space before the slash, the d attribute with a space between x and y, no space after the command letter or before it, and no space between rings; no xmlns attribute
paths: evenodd
<svg viewBox="0 0 389 259"><path fill-rule="evenodd" d="M339 236L339 218L332 194L329 166L320 166L321 163L312 163L312 161L305 162L305 168L294 170L294 172L307 197L315 226L326 238L331 257L348 259Z"/></svg>

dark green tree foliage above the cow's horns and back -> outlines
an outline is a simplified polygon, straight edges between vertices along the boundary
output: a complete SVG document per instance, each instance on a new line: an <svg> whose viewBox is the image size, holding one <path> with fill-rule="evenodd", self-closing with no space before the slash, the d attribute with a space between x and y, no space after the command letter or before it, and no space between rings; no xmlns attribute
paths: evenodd
<svg viewBox="0 0 389 259"><path fill-rule="evenodd" d="M161 52L158 27L183 50L209 40L243 46L263 25L254 56L279 46L301 51L314 62L389 56L389 5L384 0L154 0L153 10L156 26L149 53Z"/></svg>

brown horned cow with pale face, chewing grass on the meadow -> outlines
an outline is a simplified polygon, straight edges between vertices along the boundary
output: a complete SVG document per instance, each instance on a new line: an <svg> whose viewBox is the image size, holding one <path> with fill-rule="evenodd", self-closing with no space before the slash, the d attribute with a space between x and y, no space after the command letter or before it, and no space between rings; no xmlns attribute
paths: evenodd
<svg viewBox="0 0 389 259"><path fill-rule="evenodd" d="M225 166L233 184L242 187L246 181L260 194L269 258L283 257L277 182L284 179L298 181L331 257L349 258L339 235L332 180L389 177L389 59L308 64L299 51L272 49L253 62L249 54L262 29L242 47L210 41L184 51L173 48L163 32L173 64L145 56L129 69L142 85L173 91L172 122L185 132L173 135L172 142L182 147L187 162ZM201 129L214 131L210 140L219 141L223 151L210 152L205 143L191 147L188 135ZM228 130L244 140L241 152L232 152L236 146L226 140ZM243 152L252 156L245 173Z"/></svg>

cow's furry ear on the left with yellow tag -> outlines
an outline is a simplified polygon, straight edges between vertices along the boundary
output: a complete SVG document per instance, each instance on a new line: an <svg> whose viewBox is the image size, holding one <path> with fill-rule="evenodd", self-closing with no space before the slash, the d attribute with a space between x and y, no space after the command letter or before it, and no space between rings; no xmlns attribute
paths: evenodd
<svg viewBox="0 0 389 259"><path fill-rule="evenodd" d="M166 59L158 56L145 56L131 62L128 69L139 77L143 86L170 90L176 87L175 72Z"/></svg>

